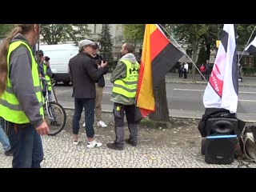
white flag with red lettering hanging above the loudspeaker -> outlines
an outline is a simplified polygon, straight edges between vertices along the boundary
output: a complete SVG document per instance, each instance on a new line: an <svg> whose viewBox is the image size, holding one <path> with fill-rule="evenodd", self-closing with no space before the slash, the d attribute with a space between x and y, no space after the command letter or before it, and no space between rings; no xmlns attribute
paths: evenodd
<svg viewBox="0 0 256 192"><path fill-rule="evenodd" d="M222 108L236 113L238 108L238 64L234 24L225 24L221 43L203 95L206 108Z"/></svg>

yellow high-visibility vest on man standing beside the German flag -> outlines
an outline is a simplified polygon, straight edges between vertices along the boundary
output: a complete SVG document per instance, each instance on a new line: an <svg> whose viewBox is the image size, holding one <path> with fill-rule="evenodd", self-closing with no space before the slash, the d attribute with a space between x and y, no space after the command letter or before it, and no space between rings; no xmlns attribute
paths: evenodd
<svg viewBox="0 0 256 192"><path fill-rule="evenodd" d="M126 59L121 59L121 62L126 64L126 78L117 79L114 81L113 92L122 94L126 98L135 98L138 85L138 62L132 63Z"/></svg>

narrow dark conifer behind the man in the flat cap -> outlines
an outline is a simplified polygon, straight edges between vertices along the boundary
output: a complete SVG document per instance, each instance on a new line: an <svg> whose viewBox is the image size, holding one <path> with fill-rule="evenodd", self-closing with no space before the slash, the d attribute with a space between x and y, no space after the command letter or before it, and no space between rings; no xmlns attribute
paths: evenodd
<svg viewBox="0 0 256 192"><path fill-rule="evenodd" d="M111 42L111 35L110 35L110 26L108 24L103 24L102 26L102 34L101 38L99 39L101 43L101 52L106 58L107 62L113 62L112 56L112 42Z"/></svg>

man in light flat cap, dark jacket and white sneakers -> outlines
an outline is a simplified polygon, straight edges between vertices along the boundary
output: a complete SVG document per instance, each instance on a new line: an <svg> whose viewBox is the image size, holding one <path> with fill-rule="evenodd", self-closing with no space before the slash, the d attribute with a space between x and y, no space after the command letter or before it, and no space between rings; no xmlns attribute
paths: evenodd
<svg viewBox="0 0 256 192"><path fill-rule="evenodd" d="M82 109L85 109L87 148L102 146L101 142L94 139L94 106L95 106L95 82L106 73L106 62L101 62L98 69L91 58L95 42L84 39L78 43L79 53L70 58L70 78L73 86L74 117L72 122L73 144L78 145L79 121Z"/></svg>

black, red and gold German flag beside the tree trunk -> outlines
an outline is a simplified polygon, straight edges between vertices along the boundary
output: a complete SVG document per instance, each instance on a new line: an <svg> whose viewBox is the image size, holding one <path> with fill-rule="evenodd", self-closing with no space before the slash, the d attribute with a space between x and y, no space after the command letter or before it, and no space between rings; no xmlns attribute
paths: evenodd
<svg viewBox="0 0 256 192"><path fill-rule="evenodd" d="M154 112L154 90L182 55L158 25L146 24L136 96L137 121Z"/></svg>

